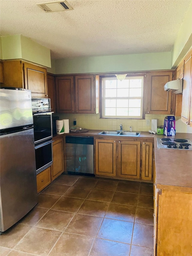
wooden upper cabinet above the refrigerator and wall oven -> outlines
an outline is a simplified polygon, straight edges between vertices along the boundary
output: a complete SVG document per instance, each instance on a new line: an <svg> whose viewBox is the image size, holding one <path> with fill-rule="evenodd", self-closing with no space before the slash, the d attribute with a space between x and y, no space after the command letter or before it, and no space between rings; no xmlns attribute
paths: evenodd
<svg viewBox="0 0 192 256"><path fill-rule="evenodd" d="M47 97L47 71L22 61L4 61L4 84L29 89L32 97Z"/></svg>

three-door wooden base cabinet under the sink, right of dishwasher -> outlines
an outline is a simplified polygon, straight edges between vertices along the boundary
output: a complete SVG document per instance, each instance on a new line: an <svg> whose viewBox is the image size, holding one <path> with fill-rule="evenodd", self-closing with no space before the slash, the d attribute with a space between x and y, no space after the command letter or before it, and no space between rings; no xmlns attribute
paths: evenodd
<svg viewBox="0 0 192 256"><path fill-rule="evenodd" d="M152 142L96 139L95 149L96 175L152 181Z"/></svg>

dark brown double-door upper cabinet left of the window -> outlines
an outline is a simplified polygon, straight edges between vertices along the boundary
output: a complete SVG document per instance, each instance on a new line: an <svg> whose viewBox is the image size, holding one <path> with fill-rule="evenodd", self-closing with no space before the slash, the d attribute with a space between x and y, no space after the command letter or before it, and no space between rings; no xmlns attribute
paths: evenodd
<svg viewBox="0 0 192 256"><path fill-rule="evenodd" d="M56 77L56 91L58 113L98 113L97 76Z"/></svg>

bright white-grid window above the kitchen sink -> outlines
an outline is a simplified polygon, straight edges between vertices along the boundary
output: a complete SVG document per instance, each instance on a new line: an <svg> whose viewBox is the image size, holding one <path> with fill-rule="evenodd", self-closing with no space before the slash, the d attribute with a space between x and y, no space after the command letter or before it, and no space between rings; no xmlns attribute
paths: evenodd
<svg viewBox="0 0 192 256"><path fill-rule="evenodd" d="M102 117L143 118L144 76L102 77Z"/></svg>

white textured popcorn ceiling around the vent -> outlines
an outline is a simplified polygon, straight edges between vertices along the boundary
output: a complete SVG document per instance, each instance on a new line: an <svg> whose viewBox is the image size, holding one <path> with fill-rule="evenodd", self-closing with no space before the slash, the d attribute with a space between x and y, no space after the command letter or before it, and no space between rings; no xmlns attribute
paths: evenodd
<svg viewBox="0 0 192 256"><path fill-rule="evenodd" d="M46 13L36 3L0 0L1 35L22 34L53 59L171 51L190 0L67 0Z"/></svg>

